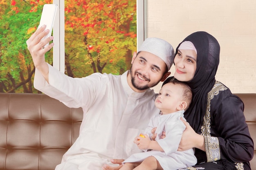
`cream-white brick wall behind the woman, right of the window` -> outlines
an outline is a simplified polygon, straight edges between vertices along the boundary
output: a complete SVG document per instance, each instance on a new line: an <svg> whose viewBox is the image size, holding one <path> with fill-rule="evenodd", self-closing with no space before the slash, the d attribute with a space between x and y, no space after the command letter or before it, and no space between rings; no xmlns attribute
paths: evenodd
<svg viewBox="0 0 256 170"><path fill-rule="evenodd" d="M256 0L147 0L147 37L163 38L176 49L196 31L220 43L216 79L232 93L256 93Z"/></svg>

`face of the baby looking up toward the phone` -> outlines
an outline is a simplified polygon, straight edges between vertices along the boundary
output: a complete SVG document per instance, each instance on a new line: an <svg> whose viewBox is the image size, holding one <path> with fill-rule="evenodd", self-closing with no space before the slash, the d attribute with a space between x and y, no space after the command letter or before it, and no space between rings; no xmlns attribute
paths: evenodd
<svg viewBox="0 0 256 170"><path fill-rule="evenodd" d="M155 99L155 106L163 114L177 111L177 107L182 102L182 86L179 84L167 83L162 86L158 97Z"/></svg>

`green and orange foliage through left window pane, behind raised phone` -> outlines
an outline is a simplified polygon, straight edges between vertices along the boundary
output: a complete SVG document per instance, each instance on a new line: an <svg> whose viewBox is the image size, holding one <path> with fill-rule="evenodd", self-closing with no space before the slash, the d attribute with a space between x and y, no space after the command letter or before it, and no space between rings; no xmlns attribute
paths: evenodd
<svg viewBox="0 0 256 170"><path fill-rule="evenodd" d="M26 40L36 30L44 3L51 0L0 0L0 92L36 93L34 64ZM52 62L51 52L46 55ZM48 60L49 59L49 60Z"/></svg>

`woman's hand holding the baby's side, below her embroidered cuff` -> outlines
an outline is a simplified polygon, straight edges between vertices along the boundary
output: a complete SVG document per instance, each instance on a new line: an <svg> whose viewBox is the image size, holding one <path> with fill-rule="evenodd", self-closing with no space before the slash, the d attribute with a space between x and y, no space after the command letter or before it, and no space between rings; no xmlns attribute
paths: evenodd
<svg viewBox="0 0 256 170"><path fill-rule="evenodd" d="M182 134L182 138L180 141L180 145L177 151L184 151L191 148L198 148L200 150L205 151L204 148L204 137L199 135L193 130L193 128L189 125L188 122L184 121L184 119L180 118L186 126Z"/></svg>

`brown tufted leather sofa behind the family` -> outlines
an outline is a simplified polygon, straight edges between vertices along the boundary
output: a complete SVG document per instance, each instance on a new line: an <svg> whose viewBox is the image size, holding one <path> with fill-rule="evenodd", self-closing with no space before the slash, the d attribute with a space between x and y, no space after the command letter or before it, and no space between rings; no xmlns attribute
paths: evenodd
<svg viewBox="0 0 256 170"><path fill-rule="evenodd" d="M237 95L256 141L256 94ZM54 170L78 137L82 118L81 108L47 95L0 93L0 170ZM256 158L250 163L256 170Z"/></svg>

